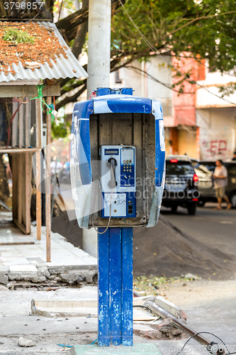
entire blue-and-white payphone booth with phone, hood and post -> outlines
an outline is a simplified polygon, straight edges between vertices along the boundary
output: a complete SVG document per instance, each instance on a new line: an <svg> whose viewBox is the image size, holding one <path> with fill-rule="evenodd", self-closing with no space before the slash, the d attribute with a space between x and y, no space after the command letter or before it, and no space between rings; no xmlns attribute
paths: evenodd
<svg viewBox="0 0 236 355"><path fill-rule="evenodd" d="M160 102L98 88L74 105L72 195L79 226L98 232L99 346L133 344L133 227L157 224L164 158Z"/></svg>

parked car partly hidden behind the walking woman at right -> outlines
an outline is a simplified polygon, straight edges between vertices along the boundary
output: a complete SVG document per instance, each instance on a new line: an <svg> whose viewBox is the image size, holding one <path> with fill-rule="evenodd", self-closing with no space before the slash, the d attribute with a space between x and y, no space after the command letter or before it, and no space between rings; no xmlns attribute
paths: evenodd
<svg viewBox="0 0 236 355"><path fill-rule="evenodd" d="M227 186L226 195L230 199L232 207L236 208L236 161L223 162L227 169ZM214 182L212 174L215 170L215 162L207 160L199 160L197 164L194 163L194 170L198 175L198 191L199 206L203 206L206 202L216 202Z"/></svg>

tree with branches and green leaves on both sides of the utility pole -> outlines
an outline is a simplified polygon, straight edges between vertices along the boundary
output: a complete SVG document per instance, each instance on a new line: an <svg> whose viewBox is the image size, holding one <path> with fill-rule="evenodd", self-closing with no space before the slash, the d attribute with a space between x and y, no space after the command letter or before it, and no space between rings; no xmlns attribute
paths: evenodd
<svg viewBox="0 0 236 355"><path fill-rule="evenodd" d="M88 0L83 0L81 10L56 23L77 58L86 43L88 13ZM207 60L212 71L236 75L235 0L112 0L111 72L153 53L179 56L184 51ZM180 82L188 79L176 69ZM57 100L58 108L86 89L86 80L60 84L62 94L69 94Z"/></svg>

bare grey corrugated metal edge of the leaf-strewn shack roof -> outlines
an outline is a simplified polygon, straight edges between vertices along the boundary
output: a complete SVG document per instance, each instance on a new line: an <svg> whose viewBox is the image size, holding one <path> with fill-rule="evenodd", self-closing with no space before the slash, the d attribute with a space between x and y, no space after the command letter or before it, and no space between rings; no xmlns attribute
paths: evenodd
<svg viewBox="0 0 236 355"><path fill-rule="evenodd" d="M45 28L50 28L50 31L54 31L55 36L58 38L60 45L62 45L64 48L64 51L67 55L68 58L64 58L62 54L60 54L60 58L57 57L56 60L50 59L52 63L52 67L48 65L47 62L45 62L44 65L41 64L40 69L24 69L23 65L21 62L18 62L16 65L13 63L11 65L12 69L16 72L16 75L12 75L9 73L8 75L5 75L4 72L0 73L0 82L10 82L10 81L16 81L16 80L37 80L37 79L65 79L66 77L72 78L72 77L88 77L86 71L82 67L82 65L79 64L77 58L74 57L72 51L69 49L67 43L64 41L62 38L62 35L60 32L57 30L57 27L55 26L55 23L51 22L39 22L37 21L39 26L43 26ZM48 34L50 35L50 31Z"/></svg>

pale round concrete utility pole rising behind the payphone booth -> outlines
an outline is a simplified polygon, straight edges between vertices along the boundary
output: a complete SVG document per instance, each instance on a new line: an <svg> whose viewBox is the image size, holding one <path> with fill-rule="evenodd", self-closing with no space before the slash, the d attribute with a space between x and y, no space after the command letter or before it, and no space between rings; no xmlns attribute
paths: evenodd
<svg viewBox="0 0 236 355"><path fill-rule="evenodd" d="M97 87L109 87L111 58L111 0L89 0L87 99ZM83 248L97 256L97 233L83 229Z"/></svg>

